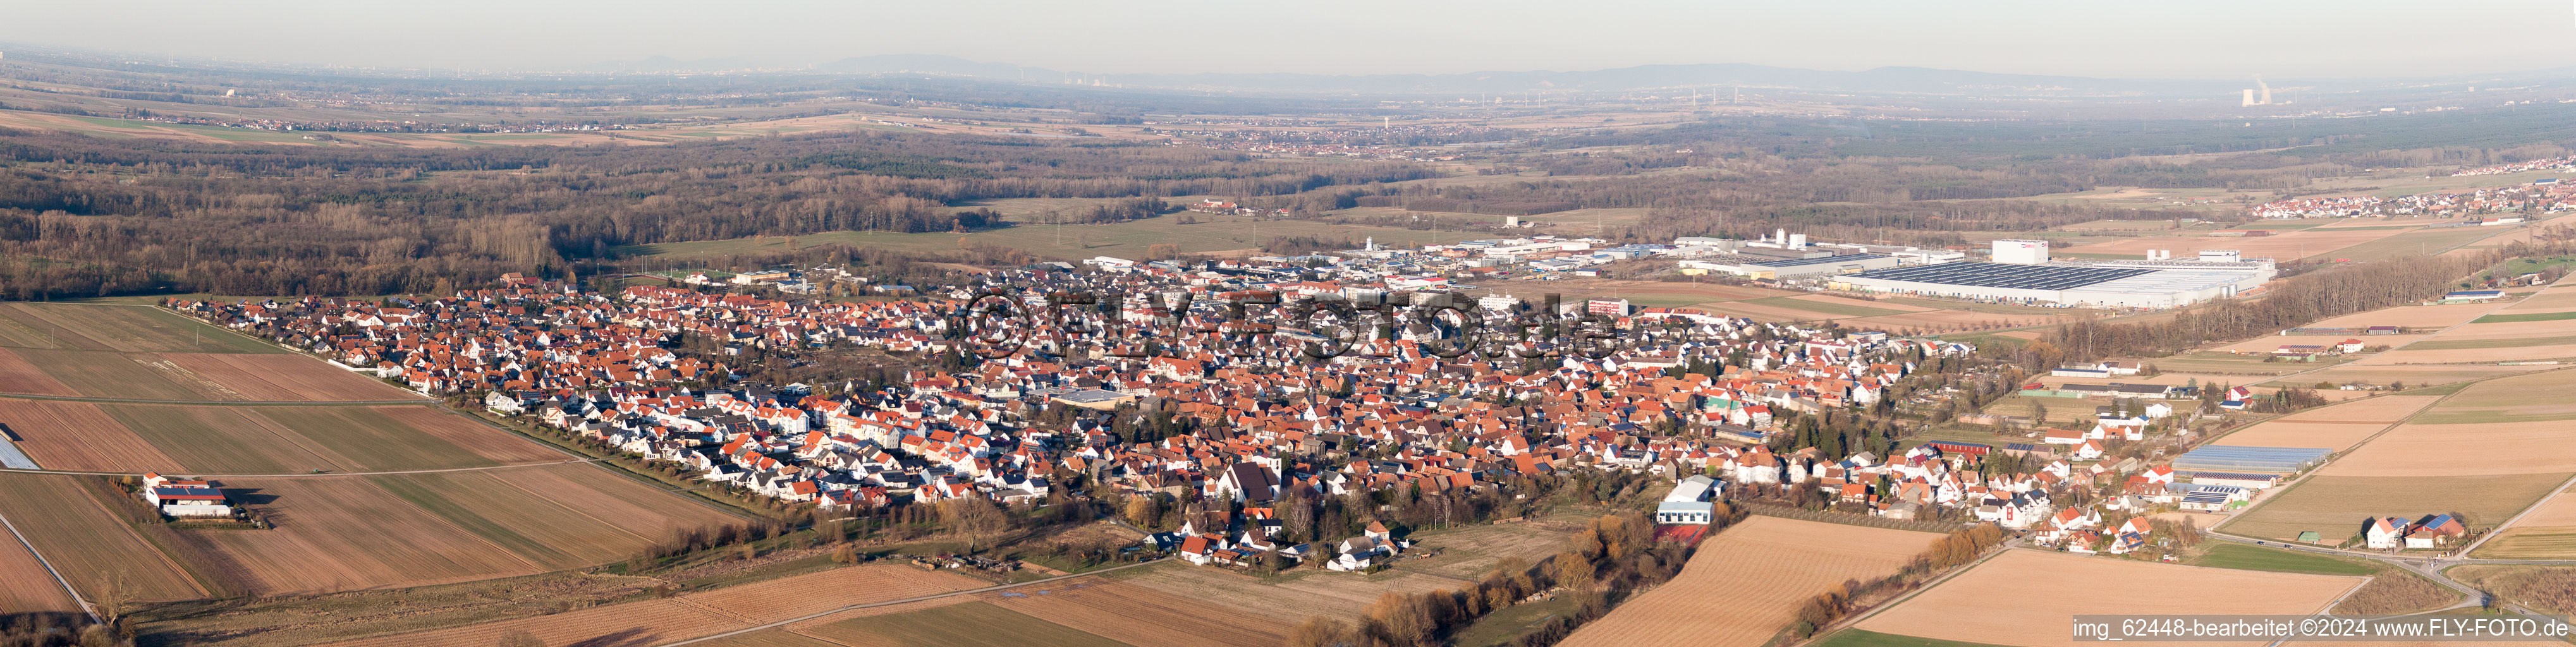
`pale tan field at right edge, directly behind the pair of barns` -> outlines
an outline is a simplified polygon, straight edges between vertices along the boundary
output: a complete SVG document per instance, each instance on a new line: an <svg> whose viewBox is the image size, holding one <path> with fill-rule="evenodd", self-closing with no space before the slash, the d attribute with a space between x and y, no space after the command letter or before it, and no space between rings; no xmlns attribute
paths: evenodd
<svg viewBox="0 0 2576 647"><path fill-rule="evenodd" d="M2326 544L2342 544L2372 516L2419 518L2455 513L2470 531L2488 531L2548 492L2568 474L2468 474L2468 477L2334 477L2313 474L2290 490L2236 513L2221 531L2295 541L2316 531Z"/></svg>

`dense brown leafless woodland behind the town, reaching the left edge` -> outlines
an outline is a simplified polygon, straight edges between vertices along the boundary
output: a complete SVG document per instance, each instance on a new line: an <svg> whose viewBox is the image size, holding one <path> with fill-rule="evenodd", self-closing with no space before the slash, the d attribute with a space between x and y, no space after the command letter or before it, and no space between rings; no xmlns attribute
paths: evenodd
<svg viewBox="0 0 2576 647"><path fill-rule="evenodd" d="M933 155L935 152L935 155ZM1270 196L1430 178L1236 152L920 134L675 147L270 150L0 131L0 296L392 294L621 245L997 227L981 198Z"/></svg>

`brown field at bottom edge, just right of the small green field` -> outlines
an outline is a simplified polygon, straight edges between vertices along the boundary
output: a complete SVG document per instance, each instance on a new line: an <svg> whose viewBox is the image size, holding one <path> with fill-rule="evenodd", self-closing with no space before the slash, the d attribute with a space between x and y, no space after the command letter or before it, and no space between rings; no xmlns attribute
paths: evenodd
<svg viewBox="0 0 2576 647"><path fill-rule="evenodd" d="M1249 613L1206 613L1198 601L1103 580L1015 588L1002 595L981 598L1010 611L1126 644L1275 647L1291 629L1288 621Z"/></svg>

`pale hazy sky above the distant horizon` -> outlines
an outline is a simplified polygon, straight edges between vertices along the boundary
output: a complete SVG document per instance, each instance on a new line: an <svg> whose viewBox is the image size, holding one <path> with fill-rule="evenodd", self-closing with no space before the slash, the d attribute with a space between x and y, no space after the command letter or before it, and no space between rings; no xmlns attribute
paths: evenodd
<svg viewBox="0 0 2576 647"><path fill-rule="evenodd" d="M2571 0L126 0L0 41L353 67L799 67L948 54L1072 72L1479 72L1749 62L2079 77L2439 77L2576 64Z"/></svg>

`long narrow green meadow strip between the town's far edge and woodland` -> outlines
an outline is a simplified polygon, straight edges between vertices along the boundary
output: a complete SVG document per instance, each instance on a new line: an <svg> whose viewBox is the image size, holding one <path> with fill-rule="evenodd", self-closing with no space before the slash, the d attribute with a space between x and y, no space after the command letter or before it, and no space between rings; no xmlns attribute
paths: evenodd
<svg viewBox="0 0 2576 647"><path fill-rule="evenodd" d="M1198 222L1180 224L1182 217L1193 217ZM1082 260L1095 255L1139 260L1157 242L1172 242L1180 247L1180 253L1247 253L1247 250L1260 250L1273 237L1321 237L1321 240L1350 240L1350 242L1376 237L1378 245L1430 245L1430 242L1479 240L1492 235L1327 224L1309 219L1255 222L1249 217L1172 214L1172 217L1136 219L1118 224L1064 224L1064 227L1018 224L1018 227L981 229L966 235L822 232L822 235L801 235L793 240L796 245L806 247L853 245L853 247L884 247L884 250L912 250L912 253L956 253L961 245L997 245L997 247L1025 250L1046 260ZM716 258L716 255L744 255L744 253L781 253L786 250L788 240L791 237L659 242L659 245L618 247L618 255Z"/></svg>

